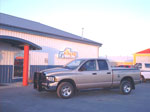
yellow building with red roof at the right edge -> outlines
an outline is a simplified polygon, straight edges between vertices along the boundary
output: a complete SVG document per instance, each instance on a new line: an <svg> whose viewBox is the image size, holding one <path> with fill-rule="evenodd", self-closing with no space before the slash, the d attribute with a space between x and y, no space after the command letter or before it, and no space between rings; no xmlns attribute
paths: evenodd
<svg viewBox="0 0 150 112"><path fill-rule="evenodd" d="M134 54L133 64L150 63L150 48Z"/></svg>

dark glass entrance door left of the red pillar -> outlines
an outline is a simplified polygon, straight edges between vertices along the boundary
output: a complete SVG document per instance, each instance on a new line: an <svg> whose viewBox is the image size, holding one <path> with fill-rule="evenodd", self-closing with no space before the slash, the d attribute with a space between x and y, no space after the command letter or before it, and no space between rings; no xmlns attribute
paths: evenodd
<svg viewBox="0 0 150 112"><path fill-rule="evenodd" d="M23 77L23 57L16 57L14 60L14 78Z"/></svg>

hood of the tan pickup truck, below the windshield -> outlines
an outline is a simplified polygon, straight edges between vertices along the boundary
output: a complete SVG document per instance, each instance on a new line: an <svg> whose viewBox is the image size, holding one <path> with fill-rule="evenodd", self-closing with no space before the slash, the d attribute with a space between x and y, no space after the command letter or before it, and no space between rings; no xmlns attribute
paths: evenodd
<svg viewBox="0 0 150 112"><path fill-rule="evenodd" d="M42 70L41 72L44 72L46 76L50 76L50 75L55 75L55 74L60 74L60 73L67 73L71 71L72 71L71 69L59 67L59 68L51 68L51 69Z"/></svg>

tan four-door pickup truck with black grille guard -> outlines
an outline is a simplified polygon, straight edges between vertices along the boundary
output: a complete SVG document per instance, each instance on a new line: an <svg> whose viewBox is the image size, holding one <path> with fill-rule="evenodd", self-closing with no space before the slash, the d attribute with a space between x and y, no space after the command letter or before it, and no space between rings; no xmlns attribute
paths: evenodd
<svg viewBox="0 0 150 112"><path fill-rule="evenodd" d="M70 98L76 91L94 88L119 88L129 94L140 83L140 71L111 68L107 59L76 59L60 68L34 73L34 89L56 91L60 98Z"/></svg>

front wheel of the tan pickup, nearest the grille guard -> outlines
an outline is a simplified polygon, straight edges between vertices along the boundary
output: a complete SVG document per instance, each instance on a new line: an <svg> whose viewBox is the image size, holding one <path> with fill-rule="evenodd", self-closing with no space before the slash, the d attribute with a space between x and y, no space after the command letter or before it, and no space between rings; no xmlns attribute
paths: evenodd
<svg viewBox="0 0 150 112"><path fill-rule="evenodd" d="M60 98L68 99L74 95L74 88L69 82L62 82L57 88L57 96Z"/></svg>

